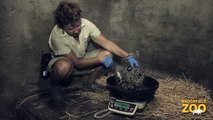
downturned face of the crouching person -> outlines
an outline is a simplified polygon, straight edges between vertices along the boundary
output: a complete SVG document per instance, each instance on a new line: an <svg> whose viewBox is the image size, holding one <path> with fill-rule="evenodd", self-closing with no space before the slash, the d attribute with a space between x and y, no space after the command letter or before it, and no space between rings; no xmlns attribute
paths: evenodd
<svg viewBox="0 0 213 120"><path fill-rule="evenodd" d="M73 37L78 37L81 33L81 20L64 26L64 31Z"/></svg>

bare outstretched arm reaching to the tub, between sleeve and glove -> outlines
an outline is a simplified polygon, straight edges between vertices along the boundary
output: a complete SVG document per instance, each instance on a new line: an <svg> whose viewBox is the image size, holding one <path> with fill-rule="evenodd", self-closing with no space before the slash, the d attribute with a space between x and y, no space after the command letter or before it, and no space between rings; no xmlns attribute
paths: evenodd
<svg viewBox="0 0 213 120"><path fill-rule="evenodd" d="M127 53L126 51L124 51L122 48L120 48L119 46L117 46L115 43L113 43L112 41L108 40L106 37L104 37L102 34L98 35L97 37L95 37L94 41L101 45L103 48L105 48L106 50L120 56L123 58L127 58L129 53Z"/></svg>

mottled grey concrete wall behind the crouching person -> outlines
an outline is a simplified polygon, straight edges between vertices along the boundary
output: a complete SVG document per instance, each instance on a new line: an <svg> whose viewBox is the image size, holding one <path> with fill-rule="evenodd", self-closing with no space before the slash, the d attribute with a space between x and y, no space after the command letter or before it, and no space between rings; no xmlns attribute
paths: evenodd
<svg viewBox="0 0 213 120"><path fill-rule="evenodd" d="M212 0L73 0L83 16L143 67L213 84ZM1 0L0 96L10 103L40 88L41 51L58 0ZM212 86L208 86L209 88ZM3 108L3 107L0 107Z"/></svg>

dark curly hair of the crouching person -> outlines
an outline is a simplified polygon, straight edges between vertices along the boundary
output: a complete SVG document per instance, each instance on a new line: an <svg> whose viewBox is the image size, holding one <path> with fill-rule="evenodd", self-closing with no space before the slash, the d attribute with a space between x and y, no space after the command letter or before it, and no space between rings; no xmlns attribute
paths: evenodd
<svg viewBox="0 0 213 120"><path fill-rule="evenodd" d="M55 24L59 28L65 25L75 24L81 19L81 9L76 3L62 1L54 11Z"/></svg>

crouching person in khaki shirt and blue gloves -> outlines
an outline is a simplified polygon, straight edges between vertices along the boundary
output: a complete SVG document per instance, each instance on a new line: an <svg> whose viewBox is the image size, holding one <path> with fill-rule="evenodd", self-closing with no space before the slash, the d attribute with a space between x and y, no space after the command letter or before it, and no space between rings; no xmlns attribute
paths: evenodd
<svg viewBox="0 0 213 120"><path fill-rule="evenodd" d="M79 6L72 2L61 2L55 13L55 27L49 37L49 46L55 58L49 63L52 84L60 84L76 70L109 68L113 65L112 54L126 58L132 67L138 62L128 52L105 38L100 30L89 20L81 18ZM103 50L87 52L89 40L94 41Z"/></svg>

